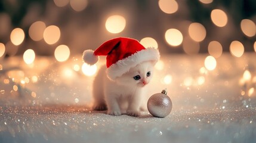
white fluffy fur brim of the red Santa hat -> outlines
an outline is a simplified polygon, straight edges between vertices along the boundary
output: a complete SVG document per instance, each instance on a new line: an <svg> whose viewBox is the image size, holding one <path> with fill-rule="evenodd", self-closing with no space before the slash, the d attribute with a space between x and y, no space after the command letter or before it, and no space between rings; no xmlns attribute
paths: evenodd
<svg viewBox="0 0 256 143"><path fill-rule="evenodd" d="M116 77L122 76L122 74L127 73L129 69L137 66L137 64L140 64L143 61L158 61L159 58L160 54L158 49L143 49L136 52L135 54L130 55L127 58L119 60L115 64L112 64L112 66L107 69L107 76L114 80Z"/></svg>

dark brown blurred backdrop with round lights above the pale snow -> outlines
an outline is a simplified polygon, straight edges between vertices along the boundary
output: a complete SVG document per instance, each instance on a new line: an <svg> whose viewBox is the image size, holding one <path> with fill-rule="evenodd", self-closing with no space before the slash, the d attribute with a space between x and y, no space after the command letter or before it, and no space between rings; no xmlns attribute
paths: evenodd
<svg viewBox="0 0 256 143"><path fill-rule="evenodd" d="M241 57L256 51L255 22L254 0L1 0L0 58L67 60L119 36L162 54Z"/></svg>

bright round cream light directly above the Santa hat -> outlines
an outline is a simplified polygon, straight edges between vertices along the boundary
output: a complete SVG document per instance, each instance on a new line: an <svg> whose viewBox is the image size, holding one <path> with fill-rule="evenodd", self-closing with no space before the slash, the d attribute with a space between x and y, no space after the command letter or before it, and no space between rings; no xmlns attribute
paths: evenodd
<svg viewBox="0 0 256 143"><path fill-rule="evenodd" d="M125 18L121 15L112 15L106 20L106 29L110 33L120 33L125 29Z"/></svg>

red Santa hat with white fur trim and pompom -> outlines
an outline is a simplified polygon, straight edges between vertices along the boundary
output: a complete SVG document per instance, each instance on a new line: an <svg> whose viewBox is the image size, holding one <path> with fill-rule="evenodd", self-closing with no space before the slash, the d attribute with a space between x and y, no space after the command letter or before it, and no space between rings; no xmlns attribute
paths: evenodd
<svg viewBox="0 0 256 143"><path fill-rule="evenodd" d="M158 49L144 48L140 42L131 38L110 39L95 51L85 50L82 58L85 63L93 65L97 63L99 55L107 56L107 76L112 80L143 61L156 63L160 58Z"/></svg>

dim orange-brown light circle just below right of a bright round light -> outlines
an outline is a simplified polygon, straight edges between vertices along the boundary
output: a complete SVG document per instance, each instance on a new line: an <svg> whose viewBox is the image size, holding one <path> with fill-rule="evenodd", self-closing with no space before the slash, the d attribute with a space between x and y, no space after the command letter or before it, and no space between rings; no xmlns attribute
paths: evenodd
<svg viewBox="0 0 256 143"><path fill-rule="evenodd" d="M198 42L193 41L190 38L185 38L183 41L183 50L188 55L195 55L198 54L200 49L200 45Z"/></svg>

